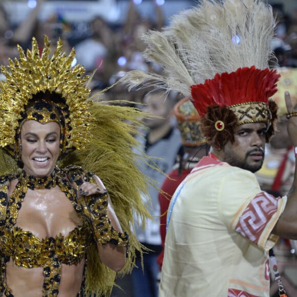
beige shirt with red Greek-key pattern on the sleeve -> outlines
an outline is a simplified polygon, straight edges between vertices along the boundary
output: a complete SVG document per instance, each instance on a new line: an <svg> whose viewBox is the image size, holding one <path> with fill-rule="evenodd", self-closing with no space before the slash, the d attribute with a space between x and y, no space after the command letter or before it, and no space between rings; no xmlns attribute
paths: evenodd
<svg viewBox="0 0 297 297"><path fill-rule="evenodd" d="M159 297L268 297L270 233L286 201L252 173L204 157L169 206Z"/></svg>

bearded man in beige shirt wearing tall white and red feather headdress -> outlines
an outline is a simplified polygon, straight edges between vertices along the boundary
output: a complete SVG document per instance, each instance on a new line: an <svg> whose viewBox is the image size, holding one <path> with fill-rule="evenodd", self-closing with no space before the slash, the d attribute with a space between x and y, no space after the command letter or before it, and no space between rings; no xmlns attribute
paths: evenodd
<svg viewBox="0 0 297 297"><path fill-rule="evenodd" d="M126 77L134 87L161 81L190 98L211 146L171 200L160 297L268 297L269 249L278 236L297 238L297 176L288 197L274 197L253 174L277 121L269 98L279 75L268 69L274 28L262 1L202 0L144 36L145 57L166 75ZM296 146L288 93L286 104Z"/></svg>

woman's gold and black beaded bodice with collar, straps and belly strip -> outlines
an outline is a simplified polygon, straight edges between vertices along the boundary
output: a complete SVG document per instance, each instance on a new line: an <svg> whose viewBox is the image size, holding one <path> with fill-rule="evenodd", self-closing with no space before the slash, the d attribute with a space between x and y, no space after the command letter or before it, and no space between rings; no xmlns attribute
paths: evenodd
<svg viewBox="0 0 297 297"><path fill-rule="evenodd" d="M79 167L69 167L64 170L55 167L49 177L43 178L29 176L24 171L15 175L0 177L0 251L2 254L0 292L7 297L13 297L11 289L7 286L5 280L6 263L10 259L19 267L43 267L44 284L42 296L57 296L62 264L78 264L83 257L86 257L86 251L93 242L93 234L87 222L83 220L83 217L80 217L81 206L76 202L75 190L66 178L69 174L69 169L72 171L73 169L79 169ZM8 198L8 184L13 179L17 179L18 183ZM55 238L46 237L43 239L34 236L30 231L24 231L22 228L15 227L18 210L22 206L28 188L49 189L56 185L61 188L62 192L72 202L74 209L83 222L82 225L73 229L65 237L59 234ZM85 272L86 264L78 296L83 294Z"/></svg>

